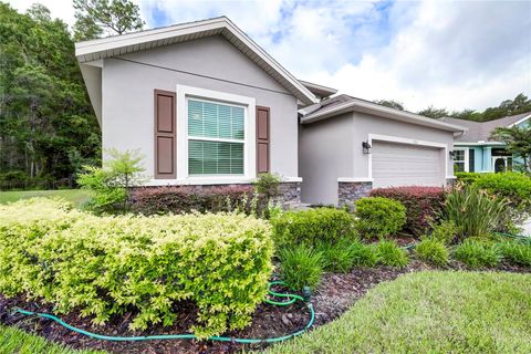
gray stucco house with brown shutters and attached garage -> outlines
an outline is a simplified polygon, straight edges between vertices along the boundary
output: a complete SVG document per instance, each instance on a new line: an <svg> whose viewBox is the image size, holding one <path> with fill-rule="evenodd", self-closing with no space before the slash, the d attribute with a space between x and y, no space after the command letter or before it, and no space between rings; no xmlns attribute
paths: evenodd
<svg viewBox="0 0 531 354"><path fill-rule="evenodd" d="M148 186L217 188L271 171L291 202L302 190L304 202L337 204L346 189L452 177L464 128L330 98L335 90L295 79L225 17L76 43L75 54L103 148L139 149Z"/></svg>

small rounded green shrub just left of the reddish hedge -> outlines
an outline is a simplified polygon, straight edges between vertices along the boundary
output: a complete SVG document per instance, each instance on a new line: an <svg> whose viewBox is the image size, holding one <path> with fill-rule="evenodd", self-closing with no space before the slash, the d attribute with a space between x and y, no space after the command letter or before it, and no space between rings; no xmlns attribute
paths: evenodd
<svg viewBox="0 0 531 354"><path fill-rule="evenodd" d="M384 238L398 232L406 223L406 208L396 200L369 197L356 200L356 230L365 238Z"/></svg>

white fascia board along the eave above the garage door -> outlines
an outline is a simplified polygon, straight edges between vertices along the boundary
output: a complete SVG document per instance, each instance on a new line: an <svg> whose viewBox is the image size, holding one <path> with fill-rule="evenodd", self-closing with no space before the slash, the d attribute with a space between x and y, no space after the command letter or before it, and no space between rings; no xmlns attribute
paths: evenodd
<svg viewBox="0 0 531 354"><path fill-rule="evenodd" d="M393 108L384 107L384 106L372 104L368 102L358 102L358 101L345 102L344 104L337 105L335 107L323 110L314 114L309 114L305 117L302 117L301 123L309 124L309 123L329 118L342 113L354 112L354 111L367 113L367 114L374 114L376 116L391 118L395 121L402 121L405 123L412 123L412 124L434 127L442 131L455 132L455 133L468 131L468 128L464 126L439 122L434 118L423 117L414 113L396 111Z"/></svg>

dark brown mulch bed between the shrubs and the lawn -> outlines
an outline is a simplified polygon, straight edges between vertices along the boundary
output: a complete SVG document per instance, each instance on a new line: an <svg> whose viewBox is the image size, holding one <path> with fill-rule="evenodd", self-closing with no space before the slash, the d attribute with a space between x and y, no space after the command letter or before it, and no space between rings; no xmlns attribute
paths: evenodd
<svg viewBox="0 0 531 354"><path fill-rule="evenodd" d="M462 266L452 262L449 269L461 269ZM378 267L372 269L358 268L350 273L327 273L323 277L319 289L312 296L315 309L315 325L322 325L339 317L356 300L362 298L371 288L383 281L394 280L400 274L414 271L433 269L430 266L412 259L405 269ZM502 264L498 270L512 272L529 272L529 269ZM263 344L243 346L236 343L223 342L198 342L198 341L148 341L148 342L106 342L92 340L81 334L71 332L53 321L28 317L10 311L20 306L30 311L52 313L50 305L38 308L34 302L27 302L22 298L6 299L0 295L0 322L14 325L28 332L44 336L53 342L61 342L75 348L105 350L111 353L235 353L242 348L260 348ZM194 324L194 309L183 308L179 313L186 314L179 319L179 323L163 327L156 325L145 332L131 332L127 330L129 319L119 319L105 326L93 326L87 319L81 319L77 314L61 316L65 322L91 331L107 335L154 335L186 333ZM303 304L291 306L273 306L262 304L253 315L252 324L243 331L233 331L227 336L232 337L273 337L302 329L309 321L308 310Z"/></svg>

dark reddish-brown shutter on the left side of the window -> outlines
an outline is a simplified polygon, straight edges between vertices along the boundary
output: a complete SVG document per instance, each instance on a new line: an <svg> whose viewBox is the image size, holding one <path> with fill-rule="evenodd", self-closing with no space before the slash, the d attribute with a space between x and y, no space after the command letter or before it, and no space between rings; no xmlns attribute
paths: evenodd
<svg viewBox="0 0 531 354"><path fill-rule="evenodd" d="M155 178L176 178L176 96L155 90Z"/></svg>

